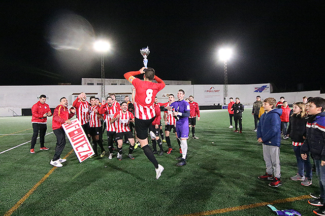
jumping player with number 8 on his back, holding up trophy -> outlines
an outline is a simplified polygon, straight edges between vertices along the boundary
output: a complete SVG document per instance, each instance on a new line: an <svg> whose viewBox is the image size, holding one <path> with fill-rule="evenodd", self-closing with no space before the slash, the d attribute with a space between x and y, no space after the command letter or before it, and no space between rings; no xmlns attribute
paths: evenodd
<svg viewBox="0 0 325 216"><path fill-rule="evenodd" d="M140 74L144 74L144 80L135 77ZM160 90L165 88L166 84L162 79L155 76L154 69L150 67L142 67L139 71L127 72L124 74L124 78L131 82L136 89L134 105L137 137L145 155L153 163L156 170L156 179L158 179L164 167L158 164L148 146L148 128L156 115L153 106L154 98ZM153 79L157 83L153 82Z"/></svg>

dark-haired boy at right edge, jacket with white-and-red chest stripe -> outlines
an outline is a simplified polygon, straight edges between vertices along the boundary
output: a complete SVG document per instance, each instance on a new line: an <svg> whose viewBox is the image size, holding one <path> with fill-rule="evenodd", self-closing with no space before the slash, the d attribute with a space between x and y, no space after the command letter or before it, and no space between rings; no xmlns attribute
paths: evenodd
<svg viewBox="0 0 325 216"><path fill-rule="evenodd" d="M320 97L307 101L308 121L306 125L307 137L300 148L301 157L306 160L310 152L314 158L316 174L319 179L320 197L308 200L311 205L321 206L313 212L325 215L325 100Z"/></svg>

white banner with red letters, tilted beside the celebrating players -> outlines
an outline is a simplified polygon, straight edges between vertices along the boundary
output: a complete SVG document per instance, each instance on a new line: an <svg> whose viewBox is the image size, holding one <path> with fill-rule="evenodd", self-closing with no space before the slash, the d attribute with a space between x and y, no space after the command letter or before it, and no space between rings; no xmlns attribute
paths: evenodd
<svg viewBox="0 0 325 216"><path fill-rule="evenodd" d="M87 135L85 134L81 123L78 119L71 120L72 124L64 123L62 127L66 132L67 137L75 151L79 162L86 160L91 155L94 155L94 151L89 143Z"/></svg>

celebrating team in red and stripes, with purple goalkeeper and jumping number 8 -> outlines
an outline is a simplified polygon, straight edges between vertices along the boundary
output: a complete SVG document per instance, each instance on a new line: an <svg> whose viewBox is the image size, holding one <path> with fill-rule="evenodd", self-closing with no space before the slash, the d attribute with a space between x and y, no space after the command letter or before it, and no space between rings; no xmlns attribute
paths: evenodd
<svg viewBox="0 0 325 216"><path fill-rule="evenodd" d="M144 80L135 77L140 74L143 74ZM102 138L103 128L106 128L109 159L113 158L113 151L115 150L117 159L122 160L122 145L125 142L129 144L127 157L135 159L132 153L140 145L144 154L153 163L156 170L156 179L158 179L164 167L157 162L154 154L159 156L164 154L163 142L167 143L167 154L170 154L175 149L175 147L173 149L170 139L170 132L173 131L181 154L180 157L176 158L178 160L176 165L185 165L190 127L192 127L192 138L199 139L195 136L195 125L197 116L198 120L200 119L200 111L198 103L193 101L194 97L190 96L184 100L185 92L179 90L177 92L177 101L175 101L175 96L170 94L168 95L168 102L158 103L156 94L165 88L165 82L155 75L153 68L143 67L139 71L130 71L125 73L124 77L134 85L133 103L128 96L125 96L125 100L119 104L115 99L115 94L110 94L103 103L100 102L99 98L93 96L90 97L90 102L88 102L86 101L86 94L80 93L70 109L68 109L67 98L62 97L60 104L52 114L49 105L45 103L46 96L41 95L39 101L31 108L33 135L30 153L35 153L38 135L40 135L40 150L49 149L44 146L44 137L47 129L47 117L53 115L52 129L57 142L55 154L50 164L61 167L62 163L66 161L66 159L60 158L66 145L66 134L62 124L71 124L70 119L76 114L84 132L88 136L89 142L92 141L95 154L91 157L105 156L106 151ZM153 80L156 82L153 82ZM166 139L164 139L161 126L160 107L164 107ZM133 133L133 128L135 128L135 133ZM153 150L148 145L148 132ZM116 145L114 146L114 144ZM101 149L100 153L97 150L98 146Z"/></svg>

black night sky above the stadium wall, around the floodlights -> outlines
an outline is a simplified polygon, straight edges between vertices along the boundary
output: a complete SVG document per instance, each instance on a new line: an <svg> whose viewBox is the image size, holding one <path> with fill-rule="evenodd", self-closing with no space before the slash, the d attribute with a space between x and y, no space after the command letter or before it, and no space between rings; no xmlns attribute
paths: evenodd
<svg viewBox="0 0 325 216"><path fill-rule="evenodd" d="M7 1L0 11L0 85L100 77L101 56L91 45L105 37L112 46L106 78L139 70L140 49L149 46L148 66L160 78L222 84L217 51L228 46L229 84L325 90L324 1ZM62 18L65 34L53 27Z"/></svg>

